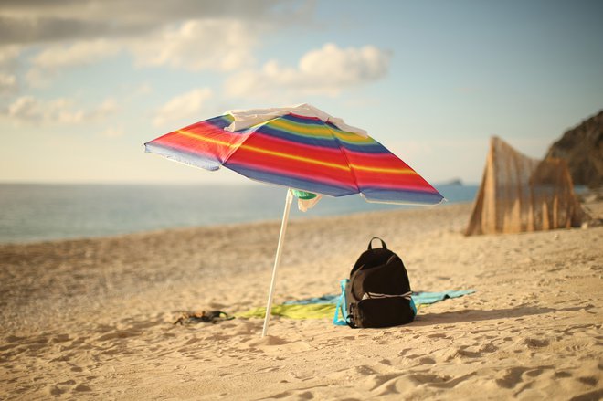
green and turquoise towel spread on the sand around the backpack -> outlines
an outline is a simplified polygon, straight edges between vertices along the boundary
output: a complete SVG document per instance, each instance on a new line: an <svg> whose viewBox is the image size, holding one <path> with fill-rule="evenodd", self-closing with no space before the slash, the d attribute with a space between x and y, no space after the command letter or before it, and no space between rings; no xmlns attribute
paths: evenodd
<svg viewBox="0 0 603 401"><path fill-rule="evenodd" d="M420 291L412 295L417 309L435 302L444 301L449 298L459 298L469 295L475 290L446 290L439 292ZM325 319L331 318L337 311L339 294L327 294L322 297L306 298L302 300L286 301L280 305L272 306L271 315L289 319ZM266 308L254 308L249 311L237 313L238 318L263 318ZM334 323L334 321L333 321ZM337 324L337 323L335 323ZM346 324L344 322L344 324Z"/></svg>

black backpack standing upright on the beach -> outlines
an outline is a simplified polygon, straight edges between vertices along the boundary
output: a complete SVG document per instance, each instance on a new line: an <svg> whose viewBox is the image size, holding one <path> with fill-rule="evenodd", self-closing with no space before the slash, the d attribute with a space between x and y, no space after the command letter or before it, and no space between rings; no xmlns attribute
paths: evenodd
<svg viewBox="0 0 603 401"><path fill-rule="evenodd" d="M373 239L382 248L373 248ZM410 282L402 259L374 237L350 272L345 288L350 327L389 327L415 319Z"/></svg>

